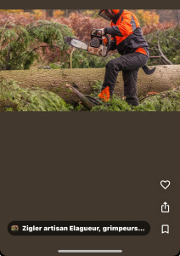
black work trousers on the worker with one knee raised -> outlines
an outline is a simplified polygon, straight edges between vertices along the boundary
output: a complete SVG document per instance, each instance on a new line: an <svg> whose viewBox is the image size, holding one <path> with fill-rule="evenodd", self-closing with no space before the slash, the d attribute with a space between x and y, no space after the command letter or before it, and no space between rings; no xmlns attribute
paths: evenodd
<svg viewBox="0 0 180 256"><path fill-rule="evenodd" d="M126 101L133 106L137 106L138 69L145 66L148 59L149 58L147 55L134 52L127 55L122 55L117 59L109 61L106 65L105 78L102 90L109 86L110 96L112 96L115 89L115 83L118 73L122 71L122 77L124 81L124 96L126 96Z"/></svg>

